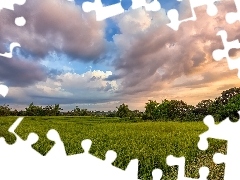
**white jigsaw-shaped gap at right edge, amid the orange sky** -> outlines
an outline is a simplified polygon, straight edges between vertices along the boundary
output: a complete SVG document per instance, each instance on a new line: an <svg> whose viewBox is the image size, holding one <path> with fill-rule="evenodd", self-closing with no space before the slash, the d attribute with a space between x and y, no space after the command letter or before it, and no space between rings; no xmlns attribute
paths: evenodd
<svg viewBox="0 0 240 180"><path fill-rule="evenodd" d="M234 40L234 41L228 42L227 41L227 32L225 30L218 31L217 35L221 36L224 49L214 50L212 53L213 58L216 61L226 58L229 69L230 70L238 69L238 78L240 78L240 58L231 59L229 56L229 51L231 49L240 49L239 40Z"/></svg>

